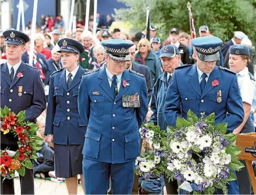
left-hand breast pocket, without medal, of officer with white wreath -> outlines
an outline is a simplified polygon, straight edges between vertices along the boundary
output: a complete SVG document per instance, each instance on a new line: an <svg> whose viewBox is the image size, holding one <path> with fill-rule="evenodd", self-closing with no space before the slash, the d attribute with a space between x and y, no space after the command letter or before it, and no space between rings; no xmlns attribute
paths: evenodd
<svg viewBox="0 0 256 195"><path fill-rule="evenodd" d="M180 97L182 98L182 109L184 111L195 111L195 103L197 99L197 93L193 91L180 91Z"/></svg>

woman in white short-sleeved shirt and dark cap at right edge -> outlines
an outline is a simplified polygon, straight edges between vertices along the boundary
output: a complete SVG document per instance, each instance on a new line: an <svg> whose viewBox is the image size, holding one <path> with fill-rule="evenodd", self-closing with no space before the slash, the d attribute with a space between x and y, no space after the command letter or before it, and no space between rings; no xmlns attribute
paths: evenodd
<svg viewBox="0 0 256 195"><path fill-rule="evenodd" d="M247 64L250 63L250 52L245 45L232 45L229 48L229 67L237 74L239 90L243 100L244 121L234 129L233 133L251 133L255 131L254 122L250 115L256 108L256 82L253 74L249 73ZM246 167L246 162L241 161L245 166L238 171L240 194L251 194L251 180Z"/></svg>

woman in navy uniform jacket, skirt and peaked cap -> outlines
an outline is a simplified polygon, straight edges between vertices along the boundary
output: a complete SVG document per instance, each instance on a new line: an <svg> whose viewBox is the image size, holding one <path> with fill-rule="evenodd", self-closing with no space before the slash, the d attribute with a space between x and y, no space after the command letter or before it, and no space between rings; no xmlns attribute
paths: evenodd
<svg viewBox="0 0 256 195"><path fill-rule="evenodd" d="M58 45L64 68L50 77L45 135L49 146L54 147L56 176L65 178L69 194L77 194L77 175L84 182L81 153L86 124L77 108L79 85L86 72L77 63L84 48L69 38L61 39Z"/></svg>

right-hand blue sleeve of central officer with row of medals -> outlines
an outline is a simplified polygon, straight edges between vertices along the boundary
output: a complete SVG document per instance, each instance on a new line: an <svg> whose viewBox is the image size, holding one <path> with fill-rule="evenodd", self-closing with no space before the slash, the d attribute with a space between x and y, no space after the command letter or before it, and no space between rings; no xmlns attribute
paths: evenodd
<svg viewBox="0 0 256 195"><path fill-rule="evenodd" d="M147 86L146 81L143 81L140 90L140 107L136 109L136 116L138 120L138 128L141 127L143 121L148 113L148 97L147 97Z"/></svg>

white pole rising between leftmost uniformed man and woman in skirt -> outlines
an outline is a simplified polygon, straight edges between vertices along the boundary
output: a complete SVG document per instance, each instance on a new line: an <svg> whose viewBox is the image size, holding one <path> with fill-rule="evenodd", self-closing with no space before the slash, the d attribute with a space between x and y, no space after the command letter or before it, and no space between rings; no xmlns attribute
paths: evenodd
<svg viewBox="0 0 256 195"><path fill-rule="evenodd" d="M33 17L32 17L32 26L31 26L31 34L30 34L30 51L29 51L29 64L33 66L33 56L34 56L34 47L35 47L35 25L37 21L37 2L38 0L34 0L34 8L33 8Z"/></svg>

